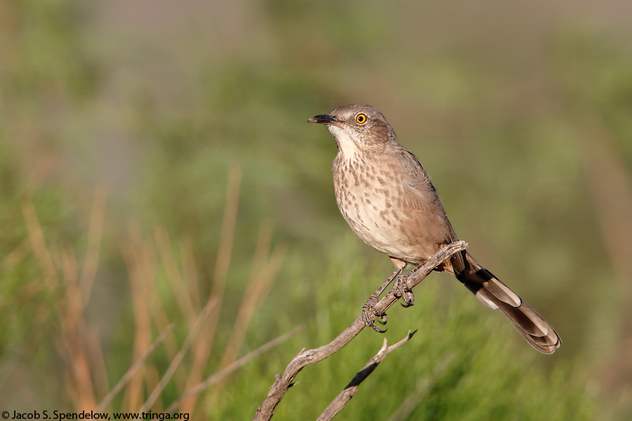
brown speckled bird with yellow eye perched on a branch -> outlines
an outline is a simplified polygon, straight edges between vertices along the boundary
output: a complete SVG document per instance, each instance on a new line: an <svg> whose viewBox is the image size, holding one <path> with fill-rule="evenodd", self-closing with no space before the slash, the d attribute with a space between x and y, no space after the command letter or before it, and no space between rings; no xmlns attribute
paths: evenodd
<svg viewBox="0 0 632 421"><path fill-rule="evenodd" d="M327 126L336 140L333 177L338 209L364 243L393 261L395 272L389 281L407 265L422 265L438 250L458 241L426 169L397 142L393 127L378 109L344 105L313 116L308 123ZM542 316L466 250L435 270L453 274L483 304L499 309L539 352L553 354L562 344ZM412 297L412 291L408 292ZM404 307L412 305L411 298L402 296L407 303ZM364 321L383 332L366 315Z"/></svg>

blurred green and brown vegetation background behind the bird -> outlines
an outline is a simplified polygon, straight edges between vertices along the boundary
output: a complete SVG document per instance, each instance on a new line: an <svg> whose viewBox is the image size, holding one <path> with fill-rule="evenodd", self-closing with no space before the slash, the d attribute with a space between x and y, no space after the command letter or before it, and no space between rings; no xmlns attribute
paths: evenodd
<svg viewBox="0 0 632 421"><path fill-rule="evenodd" d="M537 354L433 274L389 312L390 343L419 332L341 419L630 419L631 15L614 0L0 1L1 410L135 411L159 387L158 413L302 325L173 409L252 417L392 270L339 215L334 140L305 124L364 102L564 344ZM364 330L305 368L275 419L317 417L382 339Z"/></svg>

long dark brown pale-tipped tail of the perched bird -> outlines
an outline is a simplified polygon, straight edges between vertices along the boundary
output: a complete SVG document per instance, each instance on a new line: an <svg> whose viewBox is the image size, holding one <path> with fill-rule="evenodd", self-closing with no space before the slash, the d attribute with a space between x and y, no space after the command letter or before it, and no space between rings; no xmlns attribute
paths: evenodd
<svg viewBox="0 0 632 421"><path fill-rule="evenodd" d="M458 262L452 260L452 263L454 269L464 266L454 271L459 281L487 307L500 309L532 347L543 354L553 354L562 345L558 334L542 316L468 253L463 252Z"/></svg>

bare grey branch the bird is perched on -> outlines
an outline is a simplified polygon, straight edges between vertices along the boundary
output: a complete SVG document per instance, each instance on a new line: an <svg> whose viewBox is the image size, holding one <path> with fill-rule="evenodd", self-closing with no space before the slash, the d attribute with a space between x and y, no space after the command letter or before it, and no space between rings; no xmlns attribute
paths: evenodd
<svg viewBox="0 0 632 421"><path fill-rule="evenodd" d="M430 272L433 271L435 267L440 265L444 260L447 260L454 253L458 253L461 250L465 250L468 247L468 243L465 241L455 241L454 243L450 243L441 250L437 251L432 258L430 258L423 265L415 269L414 274L409 276L407 279L407 288L412 289L418 283L420 283ZM388 307L395 304L395 302L399 299L397 297L397 291L391 289L386 293L386 295L375 305L376 313L383 314L386 312ZM376 319L377 316L372 315L373 319ZM292 381L294 377L305 367L310 364L317 363L318 361L322 361L326 359L331 354L338 352L345 345L347 345L353 338L357 336L358 333L366 326L364 325L364 321L362 316L358 317L348 328L343 330L343 332L338 335L334 340L329 342L327 345L323 345L322 347L318 347L315 349L301 350L294 359L290 361L288 366L285 368L285 371L282 375L276 375L276 381L270 387L270 392L268 392L268 396L265 396L263 403L261 406L257 408L257 412L254 415L253 421L263 421L270 420L275 411L275 408L285 396L285 392L287 389L293 385Z"/></svg>

